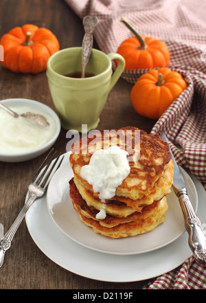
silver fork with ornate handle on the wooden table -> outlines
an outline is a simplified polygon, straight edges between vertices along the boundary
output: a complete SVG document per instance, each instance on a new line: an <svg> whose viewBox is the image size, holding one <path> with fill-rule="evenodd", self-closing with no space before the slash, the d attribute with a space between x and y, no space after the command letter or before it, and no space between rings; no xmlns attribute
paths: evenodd
<svg viewBox="0 0 206 303"><path fill-rule="evenodd" d="M28 187L29 197L26 203L23 205L21 212L19 212L19 215L16 217L16 220L8 232L6 232L6 234L0 240L0 267L3 265L5 251L10 248L14 234L23 221L27 210L36 199L43 197L43 194L45 194L49 181L52 179L54 172L56 172L56 170L62 164L63 157L60 156L61 155L58 155L58 157L56 157L56 151L54 151L54 148L52 148L34 175L34 178Z"/></svg>

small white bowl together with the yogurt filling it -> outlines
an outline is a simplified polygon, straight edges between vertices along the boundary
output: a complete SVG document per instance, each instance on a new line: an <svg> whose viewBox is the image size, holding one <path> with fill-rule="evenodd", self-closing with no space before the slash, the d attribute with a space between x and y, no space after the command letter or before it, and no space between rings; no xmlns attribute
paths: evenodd
<svg viewBox="0 0 206 303"><path fill-rule="evenodd" d="M49 106L20 98L1 102L19 114L30 111L44 115L49 126L41 128L24 117L15 118L0 109L0 161L27 161L52 147L60 133L60 120Z"/></svg>

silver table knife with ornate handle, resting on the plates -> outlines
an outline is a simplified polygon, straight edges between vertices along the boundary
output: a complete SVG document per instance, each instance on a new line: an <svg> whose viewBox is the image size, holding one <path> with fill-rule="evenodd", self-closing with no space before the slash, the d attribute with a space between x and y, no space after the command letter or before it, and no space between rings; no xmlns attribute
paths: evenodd
<svg viewBox="0 0 206 303"><path fill-rule="evenodd" d="M161 138L168 142L168 138L165 133L161 131ZM187 195L187 189L185 187L185 181L181 175L179 167L176 164L172 150L170 150L172 155L172 161L174 164L174 178L172 188L179 199L183 215L185 218L185 227L187 233L189 234L188 243L192 254L196 260L206 265L206 234L203 230L201 220L196 215L190 198Z"/></svg>

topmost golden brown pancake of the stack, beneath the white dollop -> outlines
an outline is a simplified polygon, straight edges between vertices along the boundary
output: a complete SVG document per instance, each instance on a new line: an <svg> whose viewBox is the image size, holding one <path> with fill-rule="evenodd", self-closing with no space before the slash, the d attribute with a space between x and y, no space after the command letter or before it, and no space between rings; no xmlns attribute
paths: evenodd
<svg viewBox="0 0 206 303"><path fill-rule="evenodd" d="M168 168L171 155L168 144L159 135L147 134L135 127L119 128L107 132L106 135L104 131L93 132L93 137L83 137L73 144L69 161L76 178L84 188L93 191L91 184L80 177L80 170L82 166L89 164L95 150L112 145L128 152L130 165L130 173L117 187L116 196L132 200L148 196Z"/></svg>

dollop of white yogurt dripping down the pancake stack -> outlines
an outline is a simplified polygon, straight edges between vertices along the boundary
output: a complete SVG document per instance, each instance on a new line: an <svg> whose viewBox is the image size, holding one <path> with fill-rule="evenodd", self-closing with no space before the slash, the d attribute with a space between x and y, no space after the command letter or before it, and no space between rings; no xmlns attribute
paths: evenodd
<svg viewBox="0 0 206 303"><path fill-rule="evenodd" d="M105 199L115 196L116 188L130 173L127 159L128 153L119 146L96 150L88 165L82 166L80 177L93 186L94 192L99 192L102 209L96 215L98 219L106 218Z"/></svg>

